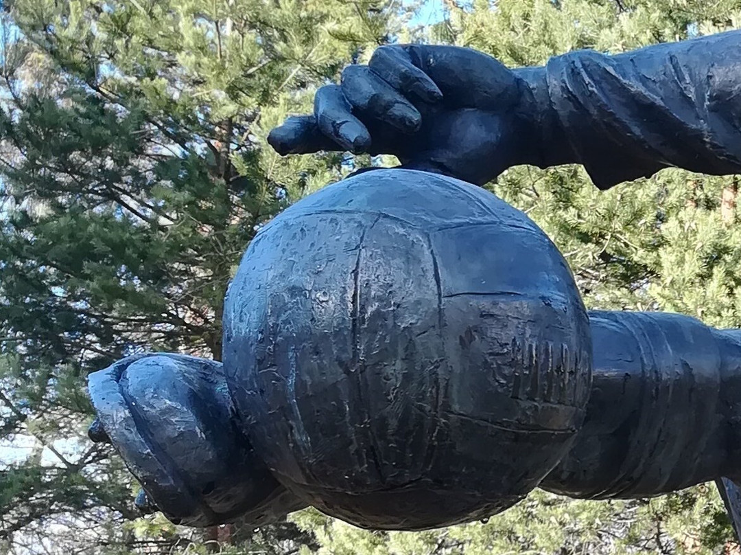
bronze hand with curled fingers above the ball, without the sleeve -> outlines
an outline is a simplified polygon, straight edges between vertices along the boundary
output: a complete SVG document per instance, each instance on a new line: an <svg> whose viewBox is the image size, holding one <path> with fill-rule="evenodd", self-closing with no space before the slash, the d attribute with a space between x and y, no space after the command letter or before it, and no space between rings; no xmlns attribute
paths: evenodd
<svg viewBox="0 0 741 555"><path fill-rule="evenodd" d="M483 184L539 151L528 84L491 56L452 46L379 47L342 85L317 91L312 116L268 142L280 154L394 154L405 167ZM534 154L535 153L535 154Z"/></svg>

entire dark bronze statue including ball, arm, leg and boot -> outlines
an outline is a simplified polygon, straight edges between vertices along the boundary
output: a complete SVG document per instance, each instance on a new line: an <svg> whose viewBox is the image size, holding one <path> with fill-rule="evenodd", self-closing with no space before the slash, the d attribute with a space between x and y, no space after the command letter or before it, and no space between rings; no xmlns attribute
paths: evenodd
<svg viewBox="0 0 741 555"><path fill-rule="evenodd" d="M602 188L668 165L741 172L740 131L741 33L521 70L379 48L269 140L402 168L259 231L227 293L223 365L155 354L90 375L90 437L142 482L137 505L186 525L314 505L419 530L534 487L632 498L722 477L733 509L741 331L588 313L548 237L471 183L518 163L580 162Z"/></svg>

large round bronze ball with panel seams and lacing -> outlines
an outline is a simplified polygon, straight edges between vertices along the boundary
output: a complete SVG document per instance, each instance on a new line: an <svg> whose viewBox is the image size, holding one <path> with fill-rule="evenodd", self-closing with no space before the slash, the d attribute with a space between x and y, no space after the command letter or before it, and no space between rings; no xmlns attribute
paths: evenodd
<svg viewBox="0 0 741 555"><path fill-rule="evenodd" d="M555 246L493 194L419 171L359 174L276 217L224 328L256 452L366 528L508 508L568 450L589 393L588 319Z"/></svg>

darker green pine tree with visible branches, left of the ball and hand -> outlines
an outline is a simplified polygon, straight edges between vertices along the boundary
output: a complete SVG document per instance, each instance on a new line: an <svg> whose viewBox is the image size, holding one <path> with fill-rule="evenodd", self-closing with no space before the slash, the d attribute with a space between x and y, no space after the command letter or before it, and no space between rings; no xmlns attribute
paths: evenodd
<svg viewBox="0 0 741 555"><path fill-rule="evenodd" d="M130 475L85 439L85 376L141 350L219 358L227 282L256 229L346 171L340 155L279 159L265 135L388 40L391 12L374 0L4 10L0 441L33 440L38 456L0 465L0 542L185 548L199 535L135 521ZM230 534L310 543L271 530Z"/></svg>

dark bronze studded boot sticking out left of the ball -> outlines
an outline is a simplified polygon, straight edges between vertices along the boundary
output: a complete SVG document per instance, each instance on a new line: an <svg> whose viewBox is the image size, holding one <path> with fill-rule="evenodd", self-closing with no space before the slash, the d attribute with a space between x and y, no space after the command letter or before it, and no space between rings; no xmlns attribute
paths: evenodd
<svg viewBox="0 0 741 555"><path fill-rule="evenodd" d="M210 526L244 516L272 522L303 505L256 459L233 419L222 365L170 353L135 355L94 372L98 418L88 435L110 442L144 488L143 513Z"/></svg>

